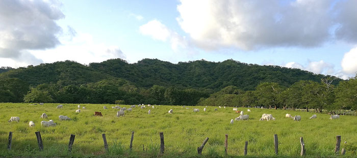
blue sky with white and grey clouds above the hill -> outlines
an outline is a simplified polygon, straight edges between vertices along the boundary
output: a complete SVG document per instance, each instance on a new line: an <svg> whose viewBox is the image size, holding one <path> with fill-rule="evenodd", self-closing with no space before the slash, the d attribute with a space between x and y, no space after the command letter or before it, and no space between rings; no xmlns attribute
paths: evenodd
<svg viewBox="0 0 357 158"><path fill-rule="evenodd" d="M0 67L111 58L234 59L357 72L354 0L2 0Z"/></svg>

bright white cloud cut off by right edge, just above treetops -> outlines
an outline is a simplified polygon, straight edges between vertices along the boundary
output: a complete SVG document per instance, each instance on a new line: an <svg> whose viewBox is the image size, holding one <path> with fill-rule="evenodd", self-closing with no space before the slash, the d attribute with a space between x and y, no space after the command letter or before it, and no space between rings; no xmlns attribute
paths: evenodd
<svg viewBox="0 0 357 158"><path fill-rule="evenodd" d="M348 74L357 73L357 47L345 53L341 61L342 70Z"/></svg>

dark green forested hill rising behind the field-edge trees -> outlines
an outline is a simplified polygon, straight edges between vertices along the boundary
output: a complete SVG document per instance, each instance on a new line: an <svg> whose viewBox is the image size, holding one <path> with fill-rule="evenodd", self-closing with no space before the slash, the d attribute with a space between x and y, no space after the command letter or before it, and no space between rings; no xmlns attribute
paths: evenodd
<svg viewBox="0 0 357 158"><path fill-rule="evenodd" d="M89 66L74 61L28 66L0 74L0 79L19 78L32 86L42 83L81 85L104 79L122 78L138 87L152 85L222 89L234 85L253 90L260 82L276 82L290 86L300 80L320 82L324 75L279 66L245 64L235 60L211 62L196 60L172 64L158 59L143 59L128 64L122 59L109 59ZM340 80L336 80L337 84Z"/></svg>

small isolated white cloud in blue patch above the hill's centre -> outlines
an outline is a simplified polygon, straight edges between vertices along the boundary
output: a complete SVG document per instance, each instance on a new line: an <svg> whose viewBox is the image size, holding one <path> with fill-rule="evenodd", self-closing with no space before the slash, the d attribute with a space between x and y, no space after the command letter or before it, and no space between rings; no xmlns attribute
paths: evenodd
<svg viewBox="0 0 357 158"><path fill-rule="evenodd" d="M177 51L180 48L187 47L186 38L180 36L175 31L167 28L158 20L151 20L139 27L140 33L145 36L150 36L152 39L160 40L163 42L169 41L171 48Z"/></svg>

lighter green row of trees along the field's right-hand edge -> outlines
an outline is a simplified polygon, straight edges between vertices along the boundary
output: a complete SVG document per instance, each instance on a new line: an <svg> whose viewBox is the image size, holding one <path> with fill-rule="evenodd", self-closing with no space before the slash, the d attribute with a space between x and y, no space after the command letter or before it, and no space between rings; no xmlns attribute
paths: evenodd
<svg viewBox="0 0 357 158"><path fill-rule="evenodd" d="M200 106L238 106L265 108L300 108L357 110L357 75L338 86L331 84L334 78L324 78L321 82L301 80L290 87L274 82L262 82L255 90L244 91L236 86L227 86L201 99Z"/></svg>

